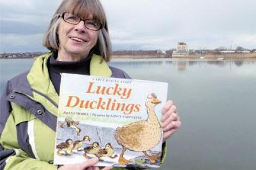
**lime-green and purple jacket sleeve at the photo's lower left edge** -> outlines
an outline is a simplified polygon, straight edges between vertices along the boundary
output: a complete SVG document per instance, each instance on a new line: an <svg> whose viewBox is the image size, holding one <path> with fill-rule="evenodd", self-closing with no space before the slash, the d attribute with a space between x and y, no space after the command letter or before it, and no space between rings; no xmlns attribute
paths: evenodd
<svg viewBox="0 0 256 170"><path fill-rule="evenodd" d="M6 96L10 92L9 84L8 82L0 100L0 170L57 169L57 166L35 158L30 158L28 154L20 148L11 103L6 100Z"/></svg>

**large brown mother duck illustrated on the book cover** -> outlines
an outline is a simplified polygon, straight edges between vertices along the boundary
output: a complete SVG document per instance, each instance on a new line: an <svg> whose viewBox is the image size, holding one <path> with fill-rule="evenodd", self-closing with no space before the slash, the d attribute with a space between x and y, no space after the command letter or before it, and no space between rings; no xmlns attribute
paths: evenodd
<svg viewBox="0 0 256 170"><path fill-rule="evenodd" d="M146 151L155 147L161 140L162 129L154 111L156 104L161 103L154 93L150 93L146 99L146 108L148 118L134 122L123 127L117 127L114 137L118 144L122 145L123 150L119 157L119 164L128 164L129 160L124 158L124 152L129 149L132 151L141 151L150 160L155 163L159 154L149 156Z"/></svg>

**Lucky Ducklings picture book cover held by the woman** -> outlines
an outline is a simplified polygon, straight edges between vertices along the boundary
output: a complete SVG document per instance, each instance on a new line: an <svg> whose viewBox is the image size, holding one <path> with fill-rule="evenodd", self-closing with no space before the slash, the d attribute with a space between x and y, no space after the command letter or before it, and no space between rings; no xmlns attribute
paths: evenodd
<svg viewBox="0 0 256 170"><path fill-rule="evenodd" d="M62 74L54 164L159 167L167 83Z"/></svg>

